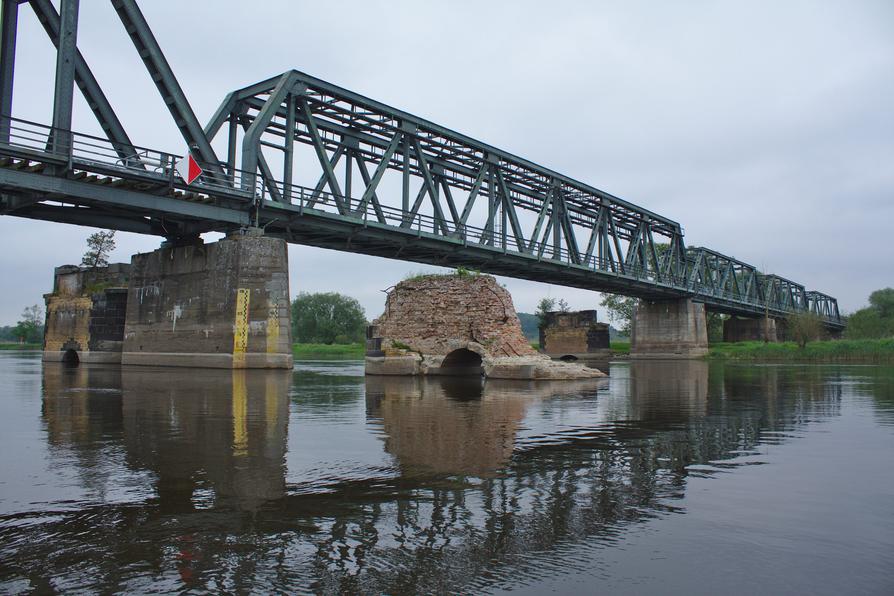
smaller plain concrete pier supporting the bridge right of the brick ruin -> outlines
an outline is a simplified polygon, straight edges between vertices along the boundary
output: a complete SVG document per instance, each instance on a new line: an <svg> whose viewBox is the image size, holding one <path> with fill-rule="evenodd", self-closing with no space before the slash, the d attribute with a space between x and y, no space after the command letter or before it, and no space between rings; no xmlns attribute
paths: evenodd
<svg viewBox="0 0 894 596"><path fill-rule="evenodd" d="M637 304L630 333L631 358L698 358L707 353L703 304L688 298Z"/></svg>

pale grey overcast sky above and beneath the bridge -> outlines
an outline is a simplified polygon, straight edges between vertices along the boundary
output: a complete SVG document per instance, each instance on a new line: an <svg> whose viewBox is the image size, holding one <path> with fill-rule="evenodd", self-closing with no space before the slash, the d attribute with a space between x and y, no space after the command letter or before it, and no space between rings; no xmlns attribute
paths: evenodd
<svg viewBox="0 0 894 596"><path fill-rule="evenodd" d="M58 5L58 4L57 4ZM298 69L679 221L708 246L836 296L894 286L894 2L256 2L141 7L201 122L238 87ZM78 45L139 145L184 143L109 2ZM49 123L55 55L20 8L13 115ZM78 97L73 128L98 134ZM42 305L93 230L0 217L0 324ZM114 261L160 239L119 233ZM303 246L291 292L368 318L424 268ZM599 296L503 279L520 311Z"/></svg>

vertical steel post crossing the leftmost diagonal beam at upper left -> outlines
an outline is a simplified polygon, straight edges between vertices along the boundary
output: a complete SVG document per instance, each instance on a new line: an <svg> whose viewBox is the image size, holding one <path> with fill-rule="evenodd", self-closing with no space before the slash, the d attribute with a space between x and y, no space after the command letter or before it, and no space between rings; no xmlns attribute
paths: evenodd
<svg viewBox="0 0 894 596"><path fill-rule="evenodd" d="M71 150L71 109L74 101L74 70L78 51L78 6L80 0L62 0L59 6L59 48L56 50L56 91L53 99L51 150Z"/></svg>

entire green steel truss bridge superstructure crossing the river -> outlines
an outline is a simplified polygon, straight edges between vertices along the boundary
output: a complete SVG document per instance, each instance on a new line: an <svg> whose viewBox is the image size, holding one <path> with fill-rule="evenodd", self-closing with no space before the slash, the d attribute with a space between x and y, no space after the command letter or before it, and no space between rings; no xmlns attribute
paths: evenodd
<svg viewBox="0 0 894 596"><path fill-rule="evenodd" d="M131 141L77 49L78 0L59 12L2 0L0 213L174 241L261 226L299 244L843 327L835 298L686 246L671 219L298 71L230 93L202 126L136 0L110 3L204 173L186 185L181 156ZM12 117L22 4L57 47L49 125ZM105 137L72 131L75 83Z"/></svg>

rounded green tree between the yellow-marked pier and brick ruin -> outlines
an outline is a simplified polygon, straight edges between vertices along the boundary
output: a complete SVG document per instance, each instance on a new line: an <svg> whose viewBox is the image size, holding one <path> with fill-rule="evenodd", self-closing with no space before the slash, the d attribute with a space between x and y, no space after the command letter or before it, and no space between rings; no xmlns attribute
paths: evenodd
<svg viewBox="0 0 894 596"><path fill-rule="evenodd" d="M292 337L301 343L363 341L366 313L356 298L336 292L302 292L292 301Z"/></svg>

